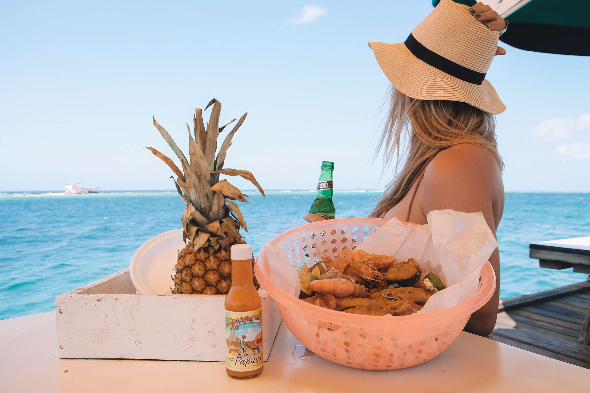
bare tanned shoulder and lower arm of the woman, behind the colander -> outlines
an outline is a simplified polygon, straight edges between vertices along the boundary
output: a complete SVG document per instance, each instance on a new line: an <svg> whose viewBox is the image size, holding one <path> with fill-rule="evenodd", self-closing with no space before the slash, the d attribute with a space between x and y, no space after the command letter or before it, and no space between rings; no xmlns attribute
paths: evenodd
<svg viewBox="0 0 590 393"><path fill-rule="evenodd" d="M504 189L496 158L484 147L460 144L441 151L428 164L421 184L420 205L426 216L432 210L481 212L496 236L503 209ZM500 298L500 255L490 256L496 272L496 290L490 301L471 315L465 330L488 335L496 324Z"/></svg>

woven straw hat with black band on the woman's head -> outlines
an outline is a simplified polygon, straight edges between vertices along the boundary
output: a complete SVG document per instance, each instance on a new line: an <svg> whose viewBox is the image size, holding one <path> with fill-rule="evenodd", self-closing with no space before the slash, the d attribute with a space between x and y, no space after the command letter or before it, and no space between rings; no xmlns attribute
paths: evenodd
<svg viewBox="0 0 590 393"><path fill-rule="evenodd" d="M369 42L369 47L389 81L409 97L461 101L502 113L506 105L485 79L499 32L476 21L468 9L441 0L405 42Z"/></svg>

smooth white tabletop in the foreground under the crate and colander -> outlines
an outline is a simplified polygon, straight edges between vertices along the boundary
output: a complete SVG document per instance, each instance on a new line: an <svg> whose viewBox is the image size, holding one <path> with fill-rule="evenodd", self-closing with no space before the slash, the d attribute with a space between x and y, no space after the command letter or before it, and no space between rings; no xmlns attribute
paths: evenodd
<svg viewBox="0 0 590 393"><path fill-rule="evenodd" d="M219 362L59 359L55 313L0 321L2 392L588 392L590 370L463 332L407 369L368 371L307 351L283 325L264 372L236 380Z"/></svg>

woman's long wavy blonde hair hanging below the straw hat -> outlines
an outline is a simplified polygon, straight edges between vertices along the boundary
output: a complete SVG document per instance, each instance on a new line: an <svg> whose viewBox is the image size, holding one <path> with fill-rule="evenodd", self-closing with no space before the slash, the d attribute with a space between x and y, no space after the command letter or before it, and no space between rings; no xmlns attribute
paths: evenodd
<svg viewBox="0 0 590 393"><path fill-rule="evenodd" d="M426 166L442 150L460 143L476 144L504 166L496 143L496 118L459 101L418 100L391 87L389 113L375 156L383 148L385 168L396 154L395 177L369 217L383 217L398 204ZM404 132L405 131L405 132ZM405 140L407 138L407 140ZM400 161L405 161L398 172Z"/></svg>

